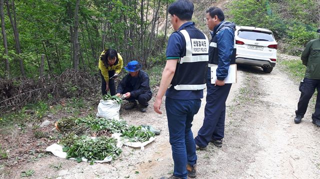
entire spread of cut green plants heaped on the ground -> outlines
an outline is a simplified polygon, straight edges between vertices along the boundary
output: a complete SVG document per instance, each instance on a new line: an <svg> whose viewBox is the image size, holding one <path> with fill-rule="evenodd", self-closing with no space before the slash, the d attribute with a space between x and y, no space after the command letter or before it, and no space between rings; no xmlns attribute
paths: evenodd
<svg viewBox="0 0 320 179"><path fill-rule="evenodd" d="M80 136L79 129L90 130L91 133L121 133L121 137L129 142L145 142L154 136L152 132L141 126L131 126L125 121L104 118L69 117L57 121L57 126L65 134L60 139L59 144L64 146L63 151L67 153L67 158L75 158L77 162L81 162L82 157L91 163L96 160L103 160L108 156L111 156L114 160L122 152L121 149L116 147L116 139L106 136L96 137L95 139L87 135ZM76 131L72 131L74 129Z"/></svg>

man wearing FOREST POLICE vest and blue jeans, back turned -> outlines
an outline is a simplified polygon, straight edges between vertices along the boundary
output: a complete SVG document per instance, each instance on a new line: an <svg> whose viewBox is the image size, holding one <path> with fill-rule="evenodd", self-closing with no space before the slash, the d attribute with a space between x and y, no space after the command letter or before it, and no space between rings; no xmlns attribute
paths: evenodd
<svg viewBox="0 0 320 179"><path fill-rule="evenodd" d="M168 12L175 31L168 39L167 60L153 108L161 114L162 97L166 92L165 110L174 162L173 176L169 179L187 179L187 176L196 176L197 158L191 123L203 98L209 41L190 21L192 2L176 0L170 4Z"/></svg>

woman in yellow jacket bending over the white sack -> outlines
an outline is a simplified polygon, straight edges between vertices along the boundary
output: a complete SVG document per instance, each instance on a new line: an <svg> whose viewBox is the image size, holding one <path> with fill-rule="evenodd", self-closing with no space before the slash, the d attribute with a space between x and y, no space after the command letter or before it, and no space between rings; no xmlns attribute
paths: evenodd
<svg viewBox="0 0 320 179"><path fill-rule="evenodd" d="M109 48L102 51L98 64L102 95L105 95L108 90L111 96L115 95L114 79L121 72L122 65L122 57L116 50Z"/></svg>

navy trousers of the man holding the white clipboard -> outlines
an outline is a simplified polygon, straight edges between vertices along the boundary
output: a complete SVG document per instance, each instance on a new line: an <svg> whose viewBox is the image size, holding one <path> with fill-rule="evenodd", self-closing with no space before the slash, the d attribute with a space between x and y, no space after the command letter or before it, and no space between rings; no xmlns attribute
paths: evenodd
<svg viewBox="0 0 320 179"><path fill-rule="evenodd" d="M211 140L223 139L225 101L231 85L228 83L223 86L214 86L210 80L207 80L203 124L194 138L195 144L199 147L207 146Z"/></svg>

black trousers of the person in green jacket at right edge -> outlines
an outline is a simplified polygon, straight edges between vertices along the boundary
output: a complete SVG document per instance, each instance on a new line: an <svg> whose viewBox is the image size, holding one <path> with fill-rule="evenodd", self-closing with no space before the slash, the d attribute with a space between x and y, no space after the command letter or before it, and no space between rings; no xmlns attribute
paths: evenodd
<svg viewBox="0 0 320 179"><path fill-rule="evenodd" d="M295 115L304 116L310 98L312 97L314 90L318 92L316 96L315 110L312 114L312 120L320 120L320 80L304 78L300 83L299 91L301 92L298 102L298 109L295 111Z"/></svg>

